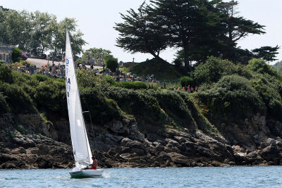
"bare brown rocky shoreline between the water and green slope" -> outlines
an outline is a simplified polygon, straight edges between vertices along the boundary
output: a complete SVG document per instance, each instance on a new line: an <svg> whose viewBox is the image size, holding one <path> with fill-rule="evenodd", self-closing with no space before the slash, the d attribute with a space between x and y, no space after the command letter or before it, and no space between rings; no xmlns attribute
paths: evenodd
<svg viewBox="0 0 282 188"><path fill-rule="evenodd" d="M22 125L15 126L16 118ZM123 119L94 126L89 137L90 144L97 146L94 149L102 168L281 165L282 139L269 137L269 120L254 115L250 122L262 130L260 134L247 134L244 127L233 130L228 138L197 129L141 131L136 122ZM38 114L2 115L0 169L72 168L68 132L68 121L63 118L49 123Z"/></svg>

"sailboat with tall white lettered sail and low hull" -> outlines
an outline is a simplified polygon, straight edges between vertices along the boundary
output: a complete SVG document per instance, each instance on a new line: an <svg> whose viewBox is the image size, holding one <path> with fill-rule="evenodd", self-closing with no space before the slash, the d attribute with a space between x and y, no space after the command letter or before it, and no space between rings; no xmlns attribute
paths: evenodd
<svg viewBox="0 0 282 188"><path fill-rule="evenodd" d="M73 144L73 155L75 168L70 173L71 177L99 177L103 170L89 169L92 161L92 153L85 129L85 121L82 115L78 81L73 63L73 51L71 39L66 30L66 96L68 103L68 118L71 127L71 142Z"/></svg>

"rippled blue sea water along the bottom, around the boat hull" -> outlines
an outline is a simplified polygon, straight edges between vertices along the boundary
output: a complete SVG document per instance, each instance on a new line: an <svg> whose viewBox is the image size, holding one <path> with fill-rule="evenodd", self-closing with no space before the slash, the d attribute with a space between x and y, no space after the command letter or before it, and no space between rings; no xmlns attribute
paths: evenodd
<svg viewBox="0 0 282 188"><path fill-rule="evenodd" d="M0 170L0 187L282 187L282 166L108 168L71 179L71 169Z"/></svg>

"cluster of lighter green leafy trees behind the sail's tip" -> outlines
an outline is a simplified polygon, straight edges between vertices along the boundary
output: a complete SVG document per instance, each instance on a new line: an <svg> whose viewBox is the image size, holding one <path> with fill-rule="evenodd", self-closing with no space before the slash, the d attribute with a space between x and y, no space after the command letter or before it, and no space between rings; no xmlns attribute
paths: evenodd
<svg viewBox="0 0 282 188"><path fill-rule="evenodd" d="M63 55L66 43L66 27L71 32L73 54L82 53L87 44L82 32L77 29L74 18L65 18L60 22L56 16L39 11L14 11L0 6L0 43L18 45L31 54Z"/></svg>

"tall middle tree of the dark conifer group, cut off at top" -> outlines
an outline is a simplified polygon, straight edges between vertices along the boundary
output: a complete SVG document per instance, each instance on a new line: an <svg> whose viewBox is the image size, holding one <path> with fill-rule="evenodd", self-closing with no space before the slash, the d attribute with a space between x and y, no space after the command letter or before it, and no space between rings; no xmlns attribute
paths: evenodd
<svg viewBox="0 0 282 188"><path fill-rule="evenodd" d="M154 0L151 2L154 13L159 15L159 20L163 24L162 27L167 28L171 35L171 46L183 49L186 70L191 70L192 61L203 61L207 56L216 53L212 46L220 43L217 35L221 30L220 14L215 8L216 1Z"/></svg>

